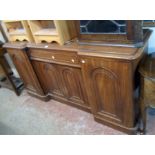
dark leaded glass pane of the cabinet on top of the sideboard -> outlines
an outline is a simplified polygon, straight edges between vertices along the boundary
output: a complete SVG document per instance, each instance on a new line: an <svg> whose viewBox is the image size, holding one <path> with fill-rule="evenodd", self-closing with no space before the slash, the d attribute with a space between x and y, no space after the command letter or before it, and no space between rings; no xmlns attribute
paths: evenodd
<svg viewBox="0 0 155 155"><path fill-rule="evenodd" d="M80 20L82 34L126 33L125 20Z"/></svg>

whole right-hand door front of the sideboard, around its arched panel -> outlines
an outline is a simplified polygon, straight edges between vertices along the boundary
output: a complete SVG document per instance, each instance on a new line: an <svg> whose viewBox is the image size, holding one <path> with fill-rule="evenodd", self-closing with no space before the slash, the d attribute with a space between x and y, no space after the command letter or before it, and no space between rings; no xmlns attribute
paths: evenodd
<svg viewBox="0 0 155 155"><path fill-rule="evenodd" d="M96 118L132 127L133 102L128 64L103 58L82 56L82 72L89 103ZM127 83L127 84L126 84ZM128 94L127 94L128 93ZM129 98L125 98L125 96Z"/></svg>

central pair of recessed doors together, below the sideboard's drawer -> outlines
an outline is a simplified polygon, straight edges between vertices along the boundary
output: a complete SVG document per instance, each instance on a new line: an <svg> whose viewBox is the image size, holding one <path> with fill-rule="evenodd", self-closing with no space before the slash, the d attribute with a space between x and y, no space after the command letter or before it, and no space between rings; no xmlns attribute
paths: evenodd
<svg viewBox="0 0 155 155"><path fill-rule="evenodd" d="M80 68L36 60L32 60L32 64L46 94L50 93L69 104L90 109Z"/></svg>

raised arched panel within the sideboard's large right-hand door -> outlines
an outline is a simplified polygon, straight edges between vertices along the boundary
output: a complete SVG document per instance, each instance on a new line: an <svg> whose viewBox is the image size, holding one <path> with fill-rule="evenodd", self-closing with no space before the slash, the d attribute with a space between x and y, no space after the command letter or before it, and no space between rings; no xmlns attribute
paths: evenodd
<svg viewBox="0 0 155 155"><path fill-rule="evenodd" d="M95 68L91 71L91 81L96 113L120 122L120 88L117 75L106 68Z"/></svg>

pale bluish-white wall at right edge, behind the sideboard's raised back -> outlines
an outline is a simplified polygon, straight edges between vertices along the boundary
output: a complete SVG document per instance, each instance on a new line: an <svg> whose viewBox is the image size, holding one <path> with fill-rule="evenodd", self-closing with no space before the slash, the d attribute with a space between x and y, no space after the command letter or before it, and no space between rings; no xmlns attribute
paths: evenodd
<svg viewBox="0 0 155 155"><path fill-rule="evenodd" d="M150 28L153 33L149 39L149 53L155 52L155 27Z"/></svg>

